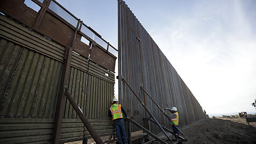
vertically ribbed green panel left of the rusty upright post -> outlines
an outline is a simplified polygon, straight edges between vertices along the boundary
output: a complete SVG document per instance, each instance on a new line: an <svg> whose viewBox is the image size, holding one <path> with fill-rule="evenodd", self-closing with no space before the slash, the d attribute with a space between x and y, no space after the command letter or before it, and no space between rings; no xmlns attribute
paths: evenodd
<svg viewBox="0 0 256 144"><path fill-rule="evenodd" d="M62 63L5 39L1 44L0 116L54 117Z"/></svg>

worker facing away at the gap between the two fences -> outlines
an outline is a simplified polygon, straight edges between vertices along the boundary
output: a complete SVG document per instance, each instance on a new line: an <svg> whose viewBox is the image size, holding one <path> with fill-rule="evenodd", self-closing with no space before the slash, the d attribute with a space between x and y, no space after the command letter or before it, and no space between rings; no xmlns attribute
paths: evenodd
<svg viewBox="0 0 256 144"><path fill-rule="evenodd" d="M123 143L122 138L121 138L121 133L124 138L124 143L127 143L127 137L126 137L126 131L125 131L124 119L123 119L122 112L123 112L124 116L126 118L128 118L124 108L120 104L118 104L117 98L113 98L112 106L109 108L109 117L112 117L112 119L114 121L116 133L117 133L117 139L118 139L119 144Z"/></svg>

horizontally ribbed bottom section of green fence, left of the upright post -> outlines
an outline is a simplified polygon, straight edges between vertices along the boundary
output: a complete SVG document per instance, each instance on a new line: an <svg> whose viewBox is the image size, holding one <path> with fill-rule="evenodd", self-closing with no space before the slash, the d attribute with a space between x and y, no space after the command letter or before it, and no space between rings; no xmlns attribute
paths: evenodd
<svg viewBox="0 0 256 144"><path fill-rule="evenodd" d="M1 118L0 143L49 143L54 119Z"/></svg>

